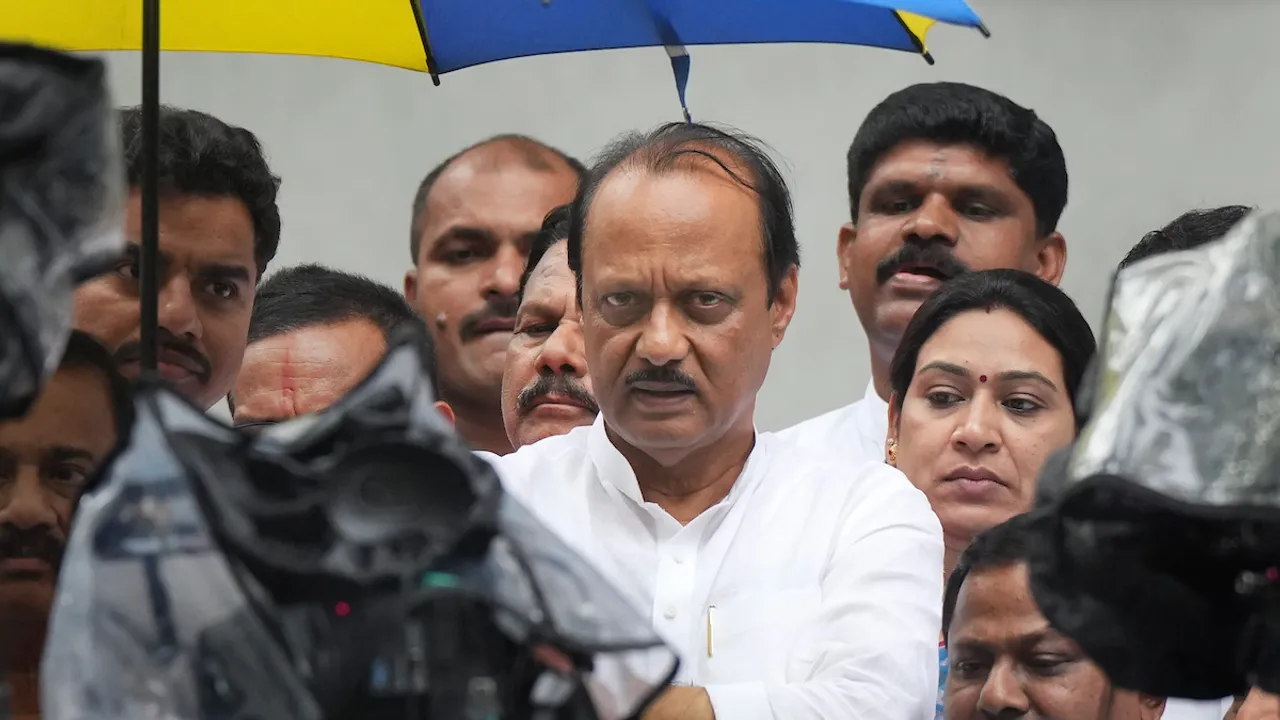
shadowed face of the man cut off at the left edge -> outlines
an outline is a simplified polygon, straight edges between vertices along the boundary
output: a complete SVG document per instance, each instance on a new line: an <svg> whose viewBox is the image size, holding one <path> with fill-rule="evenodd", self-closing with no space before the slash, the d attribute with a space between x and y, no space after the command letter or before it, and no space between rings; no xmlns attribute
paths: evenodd
<svg viewBox="0 0 1280 720"><path fill-rule="evenodd" d="M84 482L116 443L106 375L58 370L20 420L0 423L0 615L44 623Z"/></svg>

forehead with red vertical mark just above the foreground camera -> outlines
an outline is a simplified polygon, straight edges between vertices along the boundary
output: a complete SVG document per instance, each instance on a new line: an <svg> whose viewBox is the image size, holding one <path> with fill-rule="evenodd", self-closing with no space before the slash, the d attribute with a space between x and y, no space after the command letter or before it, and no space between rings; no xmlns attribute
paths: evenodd
<svg viewBox="0 0 1280 720"><path fill-rule="evenodd" d="M381 361L383 331L369 320L311 325L262 338L244 350L236 378L237 427L280 423L340 400ZM438 402L445 419L453 415Z"/></svg>

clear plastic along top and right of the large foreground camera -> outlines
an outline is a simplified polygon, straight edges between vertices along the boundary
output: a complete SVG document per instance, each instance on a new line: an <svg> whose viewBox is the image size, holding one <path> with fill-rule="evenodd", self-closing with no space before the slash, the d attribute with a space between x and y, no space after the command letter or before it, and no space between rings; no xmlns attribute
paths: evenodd
<svg viewBox="0 0 1280 720"><path fill-rule="evenodd" d="M599 571L500 489L493 469L435 409L412 337L392 345L379 368L339 404L270 427L255 445L270 454L307 455L330 443L344 423L376 418L399 428L406 441L466 466L481 488L492 484L499 493L499 534L484 562L452 569L460 589L488 598L512 639L536 638L593 656L591 669L579 679L602 720L637 716L675 676L675 651Z"/></svg>

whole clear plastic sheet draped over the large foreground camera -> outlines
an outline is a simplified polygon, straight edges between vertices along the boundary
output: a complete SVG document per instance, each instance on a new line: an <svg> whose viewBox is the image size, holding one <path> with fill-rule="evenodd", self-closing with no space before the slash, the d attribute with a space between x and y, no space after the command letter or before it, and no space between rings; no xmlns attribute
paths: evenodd
<svg viewBox="0 0 1280 720"><path fill-rule="evenodd" d="M333 465L344 437L385 439L388 428L429 452L425 465L416 465L424 480L457 461L460 468L474 462L475 487L493 482L498 533L477 562L436 568L451 578L448 592L483 598L495 625L520 646L527 639L529 647L549 644L566 657L591 657L585 670L544 673L535 685L543 696L581 687L602 720L636 716L675 675L675 651L599 573L503 493L495 477L484 475L488 465L465 447L451 455L448 438L456 436L444 434L448 428L433 407L416 352L412 345L394 346L329 411L253 438L168 391L143 387L131 446L81 501L68 542L41 671L45 720L333 717L332 707L308 689L307 667L289 651L294 646L282 643L280 633L255 612L264 607L262 588L243 582L244 562L257 551L255 562L266 559L259 568L279 562L300 577L357 580L352 587L375 582L372 570L392 565L361 564L361 553L338 552L337 546L316 552L288 537L257 533L253 543L253 521L244 520L252 515L233 510L237 502L255 505L246 498L262 487L266 495L255 501L261 516L310 507L329 493L325 507L337 518L333 484L308 486L306 478L326 477L321 466L349 468L340 459ZM442 465L433 468L435 462ZM289 468L294 475L273 473L265 483L251 477L268 466ZM381 478L399 470L387 464L375 469ZM288 477L297 478L291 487L316 488L317 495L283 487ZM201 483L212 489L193 492ZM424 518L416 525L428 529L456 521L430 512ZM412 605L412 593L406 600ZM221 670L210 693L212 666ZM346 670L335 676L351 676ZM376 667L358 670L378 675Z"/></svg>

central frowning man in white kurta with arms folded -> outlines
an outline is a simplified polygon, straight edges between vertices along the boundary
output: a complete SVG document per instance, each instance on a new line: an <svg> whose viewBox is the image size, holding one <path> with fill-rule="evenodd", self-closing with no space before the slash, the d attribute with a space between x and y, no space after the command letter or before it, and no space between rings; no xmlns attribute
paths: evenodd
<svg viewBox="0 0 1280 720"><path fill-rule="evenodd" d="M680 652L646 720L932 717L928 501L753 423L799 266L768 154L696 124L623 137L573 204L568 261L600 415L484 456Z"/></svg>

